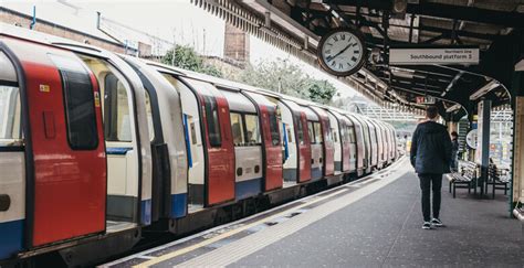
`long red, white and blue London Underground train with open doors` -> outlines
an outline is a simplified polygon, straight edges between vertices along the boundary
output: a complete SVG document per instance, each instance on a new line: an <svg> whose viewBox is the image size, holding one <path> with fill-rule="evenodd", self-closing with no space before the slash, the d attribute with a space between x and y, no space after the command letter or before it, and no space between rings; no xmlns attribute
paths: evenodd
<svg viewBox="0 0 524 268"><path fill-rule="evenodd" d="M20 28L0 34L0 265L93 265L364 176L395 129ZM34 258L33 258L34 257Z"/></svg>

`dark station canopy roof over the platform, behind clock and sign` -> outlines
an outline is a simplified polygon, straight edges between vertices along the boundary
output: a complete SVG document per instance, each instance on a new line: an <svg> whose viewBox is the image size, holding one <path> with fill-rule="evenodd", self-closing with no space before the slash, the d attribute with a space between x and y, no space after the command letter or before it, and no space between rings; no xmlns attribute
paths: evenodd
<svg viewBox="0 0 524 268"><path fill-rule="evenodd" d="M511 104L524 58L522 0L192 0L227 22L317 66L317 45L333 29L358 29L367 61L339 77L382 105L436 101L458 119L479 98ZM394 49L472 49L473 64L390 62ZM448 111L448 112L446 112Z"/></svg>

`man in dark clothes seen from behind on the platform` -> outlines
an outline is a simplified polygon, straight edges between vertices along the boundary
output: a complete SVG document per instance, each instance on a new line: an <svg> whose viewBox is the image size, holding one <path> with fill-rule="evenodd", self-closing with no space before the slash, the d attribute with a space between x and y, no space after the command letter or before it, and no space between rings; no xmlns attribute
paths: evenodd
<svg viewBox="0 0 524 268"><path fill-rule="evenodd" d="M422 193L423 229L443 226L440 221L442 174L448 173L451 162L451 139L446 127L438 124L436 106L426 109L426 121L420 122L411 139L410 161L420 180ZM431 218L431 190L433 193Z"/></svg>

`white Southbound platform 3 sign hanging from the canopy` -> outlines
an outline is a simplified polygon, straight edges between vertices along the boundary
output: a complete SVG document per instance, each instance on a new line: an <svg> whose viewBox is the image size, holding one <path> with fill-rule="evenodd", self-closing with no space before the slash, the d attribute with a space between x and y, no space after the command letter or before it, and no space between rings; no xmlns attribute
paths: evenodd
<svg viewBox="0 0 524 268"><path fill-rule="evenodd" d="M389 64L479 64L479 49L389 49Z"/></svg>

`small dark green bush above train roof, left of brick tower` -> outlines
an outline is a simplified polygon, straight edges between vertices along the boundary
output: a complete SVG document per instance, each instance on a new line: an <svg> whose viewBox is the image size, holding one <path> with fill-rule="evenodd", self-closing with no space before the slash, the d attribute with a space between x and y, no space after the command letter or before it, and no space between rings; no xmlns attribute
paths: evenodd
<svg viewBox="0 0 524 268"><path fill-rule="evenodd" d="M199 56L192 47L186 45L176 45L174 49L169 50L161 58L161 62L164 64L217 77L223 76L220 69L216 66L206 64L203 58Z"/></svg>

